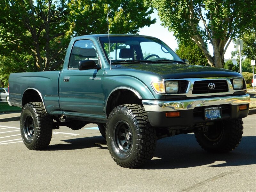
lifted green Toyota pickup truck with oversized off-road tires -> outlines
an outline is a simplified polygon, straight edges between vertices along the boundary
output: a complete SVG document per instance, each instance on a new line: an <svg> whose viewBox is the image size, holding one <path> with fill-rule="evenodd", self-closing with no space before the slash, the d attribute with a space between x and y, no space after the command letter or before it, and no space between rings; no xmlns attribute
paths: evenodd
<svg viewBox="0 0 256 192"><path fill-rule="evenodd" d="M12 73L9 95L22 108L27 148L46 148L60 126L96 123L128 168L150 160L156 140L181 133L210 152L233 150L250 103L239 73L189 65L154 37L118 34L73 38L61 71Z"/></svg>

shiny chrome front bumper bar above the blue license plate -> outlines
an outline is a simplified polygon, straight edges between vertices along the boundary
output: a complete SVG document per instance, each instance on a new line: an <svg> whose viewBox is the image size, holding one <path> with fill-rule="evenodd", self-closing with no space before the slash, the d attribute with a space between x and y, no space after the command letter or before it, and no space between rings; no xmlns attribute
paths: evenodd
<svg viewBox="0 0 256 192"><path fill-rule="evenodd" d="M162 111L178 111L194 109L195 107L211 106L211 105L242 105L250 103L250 95L200 98L191 100L142 100L142 104L146 112L162 112Z"/></svg>

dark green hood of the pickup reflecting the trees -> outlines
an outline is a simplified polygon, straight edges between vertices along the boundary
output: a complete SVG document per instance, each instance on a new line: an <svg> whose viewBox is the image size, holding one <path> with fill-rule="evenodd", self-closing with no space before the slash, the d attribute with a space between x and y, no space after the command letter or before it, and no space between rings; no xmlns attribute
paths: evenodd
<svg viewBox="0 0 256 192"><path fill-rule="evenodd" d="M235 71L188 64L170 64L170 63L149 63L149 64L122 64L118 68L130 68L142 71L156 73L164 79L171 78L196 78L196 77L228 77L241 76Z"/></svg>

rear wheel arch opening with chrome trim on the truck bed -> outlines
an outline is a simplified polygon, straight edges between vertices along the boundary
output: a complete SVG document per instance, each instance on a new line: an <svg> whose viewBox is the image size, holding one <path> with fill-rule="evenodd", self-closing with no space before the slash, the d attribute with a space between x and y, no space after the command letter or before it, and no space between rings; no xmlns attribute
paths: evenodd
<svg viewBox="0 0 256 192"><path fill-rule="evenodd" d="M30 102L42 102L43 105L44 105L44 110L47 113L46 108L45 108L45 104L44 104L44 100L43 100L43 96L35 88L26 89L24 91L23 95L22 95L21 101L22 101L22 106L24 106L24 105L26 105L27 103L30 103Z"/></svg>

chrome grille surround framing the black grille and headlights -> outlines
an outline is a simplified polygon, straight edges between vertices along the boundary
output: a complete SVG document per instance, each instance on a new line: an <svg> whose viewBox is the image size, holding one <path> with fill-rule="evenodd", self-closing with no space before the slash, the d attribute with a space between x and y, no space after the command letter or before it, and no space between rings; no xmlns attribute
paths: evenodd
<svg viewBox="0 0 256 192"><path fill-rule="evenodd" d="M246 89L233 89L233 86L231 84L230 79L234 79L234 78L243 78L243 77L207 77L207 78L184 78L184 79L159 79L159 81L164 81L164 86L165 86L165 82L166 81L178 81L178 80L182 80L182 81L188 81L188 89L185 93L158 93L155 91L155 89L152 87L152 89L154 90L154 92L157 95L173 95L173 96L179 96L179 95L186 95L187 97L204 97L204 96L215 96L215 95L232 95L234 92L239 92L239 91L245 91ZM192 94L193 91L193 86L195 81L207 81L207 80L226 80L228 83L228 88L229 91L228 92L218 92L218 93L205 93L205 94ZM152 82L151 82L152 83Z"/></svg>

